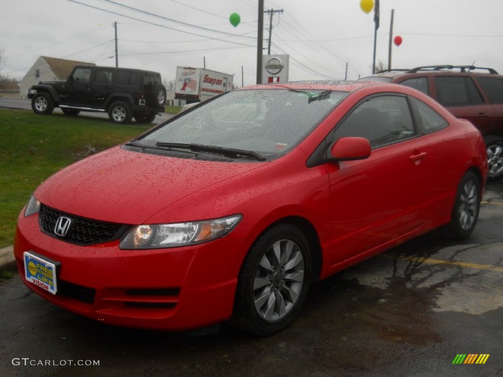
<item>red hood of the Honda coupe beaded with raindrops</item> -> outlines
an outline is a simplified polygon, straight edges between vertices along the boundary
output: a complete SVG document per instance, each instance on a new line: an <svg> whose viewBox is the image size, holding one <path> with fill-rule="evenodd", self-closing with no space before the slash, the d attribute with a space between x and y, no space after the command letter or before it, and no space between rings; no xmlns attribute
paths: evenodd
<svg viewBox="0 0 503 377"><path fill-rule="evenodd" d="M142 224L184 197L263 165L173 158L114 147L60 170L39 186L35 196L69 214Z"/></svg>

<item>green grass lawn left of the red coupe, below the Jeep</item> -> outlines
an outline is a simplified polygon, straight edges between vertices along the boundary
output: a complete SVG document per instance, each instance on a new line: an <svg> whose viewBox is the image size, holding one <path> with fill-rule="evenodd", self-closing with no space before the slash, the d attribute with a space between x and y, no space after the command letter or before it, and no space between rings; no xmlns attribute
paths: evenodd
<svg viewBox="0 0 503 377"><path fill-rule="evenodd" d="M85 115L0 109L0 248L12 245L18 214L43 180L95 150L120 144L151 127L115 125Z"/></svg>

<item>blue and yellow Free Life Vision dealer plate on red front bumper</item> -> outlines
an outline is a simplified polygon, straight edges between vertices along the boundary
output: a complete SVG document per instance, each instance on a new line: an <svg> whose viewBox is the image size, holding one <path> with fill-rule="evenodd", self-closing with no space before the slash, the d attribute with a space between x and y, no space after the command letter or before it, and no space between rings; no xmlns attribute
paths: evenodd
<svg viewBox="0 0 503 377"><path fill-rule="evenodd" d="M25 261L26 280L55 295L58 291L56 266L59 265L59 262L49 261L44 257L32 254L28 251L25 251L23 256Z"/></svg>

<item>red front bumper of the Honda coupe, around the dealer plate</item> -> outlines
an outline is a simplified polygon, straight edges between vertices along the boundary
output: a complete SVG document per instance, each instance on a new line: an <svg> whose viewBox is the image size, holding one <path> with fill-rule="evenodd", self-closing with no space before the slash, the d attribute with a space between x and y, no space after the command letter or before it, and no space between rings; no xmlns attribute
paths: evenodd
<svg viewBox="0 0 503 377"><path fill-rule="evenodd" d="M14 253L23 282L63 309L112 325L171 331L232 314L242 242L227 236L158 250L120 250L119 241L77 246L42 233L38 215L18 220ZM26 280L25 251L61 263L56 295Z"/></svg>

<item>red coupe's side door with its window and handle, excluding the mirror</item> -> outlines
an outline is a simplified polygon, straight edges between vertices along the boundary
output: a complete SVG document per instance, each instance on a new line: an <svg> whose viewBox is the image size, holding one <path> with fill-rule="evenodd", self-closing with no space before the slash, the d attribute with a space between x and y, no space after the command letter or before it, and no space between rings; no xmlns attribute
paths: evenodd
<svg viewBox="0 0 503 377"><path fill-rule="evenodd" d="M405 96L361 101L329 134L327 145L346 136L367 138L372 152L365 160L327 164L332 265L419 232L433 194L434 173Z"/></svg>

